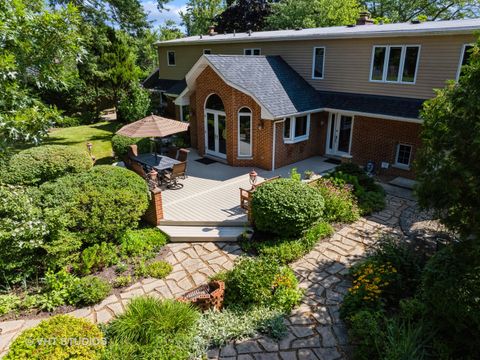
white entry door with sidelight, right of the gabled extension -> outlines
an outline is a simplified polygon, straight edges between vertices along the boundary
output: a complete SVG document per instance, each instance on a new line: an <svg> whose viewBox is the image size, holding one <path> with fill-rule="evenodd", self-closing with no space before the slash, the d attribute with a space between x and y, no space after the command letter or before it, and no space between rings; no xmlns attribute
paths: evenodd
<svg viewBox="0 0 480 360"><path fill-rule="evenodd" d="M353 116L330 113L328 119L327 154L350 155L352 147Z"/></svg>

